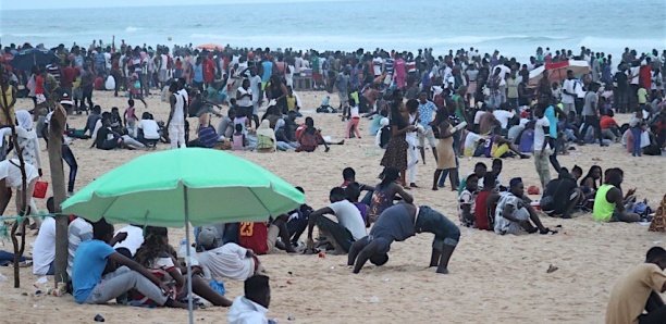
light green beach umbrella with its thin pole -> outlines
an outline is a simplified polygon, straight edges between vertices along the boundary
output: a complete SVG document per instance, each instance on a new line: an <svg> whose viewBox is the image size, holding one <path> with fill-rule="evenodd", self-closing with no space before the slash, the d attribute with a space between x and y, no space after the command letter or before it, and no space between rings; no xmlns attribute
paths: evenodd
<svg viewBox="0 0 666 324"><path fill-rule="evenodd" d="M97 178L62 203L63 213L96 222L183 227L267 221L298 208L304 195L263 167L212 149L145 154ZM194 323L187 250L189 323Z"/></svg>

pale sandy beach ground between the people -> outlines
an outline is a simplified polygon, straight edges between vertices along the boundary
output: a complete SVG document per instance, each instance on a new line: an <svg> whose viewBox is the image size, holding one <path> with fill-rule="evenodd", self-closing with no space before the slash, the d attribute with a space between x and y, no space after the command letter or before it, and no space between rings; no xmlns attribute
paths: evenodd
<svg viewBox="0 0 666 324"><path fill-rule="evenodd" d="M304 115L314 119L324 135L343 137L345 123L335 114L316 114L325 92L300 92ZM336 96L332 104L337 105ZM126 98L112 92L96 91L94 101L121 113ZM169 105L159 96L147 99L148 111L156 120L168 116ZM32 102L21 99L16 109L30 109ZM146 111L137 104L137 115ZM629 120L617 115L618 122ZM86 115L69 117L71 126L83 128ZM217 125L218 119L213 119ZM196 120L190 119L195 125ZM328 203L329 190L342 183L342 170L353 166L357 180L378 183L382 151L374 138L367 136L368 121L360 123L362 139L347 140L325 153L255 153L234 152L254 161L294 185L305 188L307 203L314 209ZM194 127L193 127L194 128ZM193 130L193 138L195 137ZM44 145L44 141L41 142ZM76 189L96 177L146 151L102 151L89 149L90 140L75 140L72 149L79 170ZM48 155L42 147L42 162ZM158 150L168 149L160 145ZM655 207L666 191L665 161L661 157L631 158L619 145L600 148L577 147L568 155L558 157L563 166L580 165L584 172L593 164L625 170L625 188L638 188L637 195L648 198ZM471 173L473 164L490 159L460 160L460 175ZM434 160L427 152L427 165L419 166L421 187L411 190L417 204L428 204L456 220L456 196L447 187L430 189ZM48 167L45 177L50 182ZM65 174L69 172L65 166ZM224 165L220 165L224 172ZM551 171L552 176L555 175ZM520 176L526 186L538 185L533 160L504 161L501 179ZM50 188L49 188L50 189ZM533 197L536 198L536 197ZM14 214L13 202L7 214ZM46 209L46 200L38 201ZM220 208L224 208L220 205ZM396 242L391 260L381 267L366 266L358 275L346 266L346 256L287 256L283 252L262 256L271 277L272 302L269 317L280 323L603 323L606 302L615 279L632 265L643 261L652 246L664 246L666 235L650 233L640 224L600 224L590 214L577 214L572 220L542 217L557 235L498 236L491 232L460 228L461 238L449 264L451 274L440 275L427 269L432 235L422 234L406 242ZM116 227L118 228L118 227ZM170 229L170 240L176 245L184 237L183 228ZM35 237L28 235L26 253ZM0 249L12 250L9 239L0 240ZM557 266L546 273L550 265ZM14 289L11 267L0 267L0 323L90 323L101 314L108 323L184 323L187 311L141 309L120 306L79 306L69 295L36 296L37 276L32 269L21 270L22 287ZM243 294L243 283L226 281L227 297ZM666 297L666 296L664 296ZM207 308L195 312L197 323L224 323L226 309Z"/></svg>

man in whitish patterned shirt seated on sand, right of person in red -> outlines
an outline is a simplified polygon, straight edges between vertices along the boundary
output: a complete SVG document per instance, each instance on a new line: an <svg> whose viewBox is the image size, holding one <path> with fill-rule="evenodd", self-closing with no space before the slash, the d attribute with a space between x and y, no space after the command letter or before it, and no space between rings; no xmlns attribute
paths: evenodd
<svg viewBox="0 0 666 324"><path fill-rule="evenodd" d="M513 178L509 182L509 190L502 192L497 202L497 209L495 210L495 233L499 235L519 235L522 233L532 234L539 230L541 234L555 234L555 230L551 230L541 224L539 215L526 203L523 197L525 186L522 179L519 177ZM532 225L530 220L534 225Z"/></svg>

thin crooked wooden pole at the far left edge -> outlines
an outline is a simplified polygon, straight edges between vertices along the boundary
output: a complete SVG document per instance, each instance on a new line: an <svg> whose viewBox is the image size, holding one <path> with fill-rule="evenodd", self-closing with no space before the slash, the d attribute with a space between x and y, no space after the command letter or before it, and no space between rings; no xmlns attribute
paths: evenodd
<svg viewBox="0 0 666 324"><path fill-rule="evenodd" d="M0 91L2 92L2 96L1 96L2 97L2 113L4 114L4 117L9 122L9 126L12 129L12 141L14 144L14 150L16 150L16 155L18 157L18 169L21 170L21 188L22 188L21 192L23 197L15 197L14 199L23 199L24 203L23 203L22 210L17 210L16 213L18 213L18 215L25 215L26 207L29 205L29 202L27 200L28 198L27 180L26 180L27 176L25 174L25 161L23 161L23 150L18 146L18 136L16 135L16 127L13 122L14 117L11 115L10 108L9 108L9 100L7 99L5 89L8 89L9 86L10 85L7 83L4 78L4 68L0 67ZM30 195L32 194L33 192L30 192ZM12 232L11 232L12 245L14 246L14 288L18 288L21 286L21 274L18 273L18 260L21 259L21 257L23 256L23 251L25 250L26 222L27 222L27 219L23 220L22 222L15 222L14 225L12 226ZM18 228L20 225L21 225L21 244L18 244L18 240L16 239L16 229Z"/></svg>

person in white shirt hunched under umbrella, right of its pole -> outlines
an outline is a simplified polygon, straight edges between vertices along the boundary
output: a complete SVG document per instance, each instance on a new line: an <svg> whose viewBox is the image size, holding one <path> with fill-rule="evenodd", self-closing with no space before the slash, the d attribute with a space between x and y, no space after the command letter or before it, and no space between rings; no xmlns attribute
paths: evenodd
<svg viewBox="0 0 666 324"><path fill-rule="evenodd" d="M217 240L217 233L210 227L199 233L198 247L203 251L197 253L197 261L205 277L245 281L263 272L263 266L252 250L233 242L218 247Z"/></svg>

